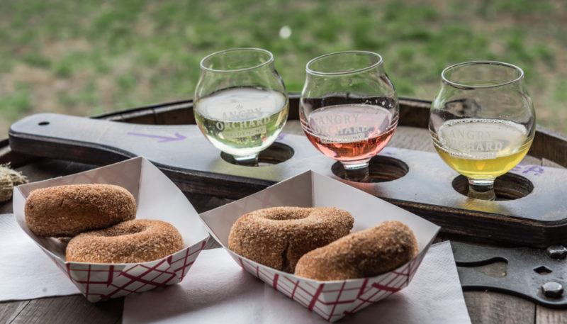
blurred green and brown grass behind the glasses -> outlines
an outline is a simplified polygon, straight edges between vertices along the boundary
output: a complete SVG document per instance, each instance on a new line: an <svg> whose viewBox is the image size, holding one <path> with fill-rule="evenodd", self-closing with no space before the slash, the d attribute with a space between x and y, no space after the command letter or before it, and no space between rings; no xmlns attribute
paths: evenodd
<svg viewBox="0 0 567 324"><path fill-rule="evenodd" d="M312 57L376 51L398 94L423 99L447 65L510 62L538 122L567 133L563 0L26 0L0 1L0 137L30 113L190 98L201 57L235 47L273 52L288 91L301 91Z"/></svg>

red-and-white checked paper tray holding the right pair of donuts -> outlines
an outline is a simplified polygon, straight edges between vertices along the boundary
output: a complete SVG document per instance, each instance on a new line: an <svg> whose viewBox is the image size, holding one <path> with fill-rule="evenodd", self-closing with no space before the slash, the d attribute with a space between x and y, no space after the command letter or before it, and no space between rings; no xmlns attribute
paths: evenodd
<svg viewBox="0 0 567 324"><path fill-rule="evenodd" d="M344 281L316 281L266 267L228 249L230 228L237 218L259 208L275 206L342 208L354 217L352 232L371 228L385 220L400 220L415 233L419 254L398 269L378 276ZM201 213L200 216L213 238L228 250L243 269L330 322L360 311L408 286L439 231L439 226L419 216L312 171Z"/></svg>

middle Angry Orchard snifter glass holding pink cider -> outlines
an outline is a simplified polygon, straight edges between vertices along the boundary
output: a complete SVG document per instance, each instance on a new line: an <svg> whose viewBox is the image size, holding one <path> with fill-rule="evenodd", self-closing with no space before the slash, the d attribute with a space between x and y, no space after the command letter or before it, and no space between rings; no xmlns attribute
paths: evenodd
<svg viewBox="0 0 567 324"><path fill-rule="evenodd" d="M398 96L374 52L347 51L308 62L301 127L315 147L342 163L347 179L369 181L369 161L398 125Z"/></svg>

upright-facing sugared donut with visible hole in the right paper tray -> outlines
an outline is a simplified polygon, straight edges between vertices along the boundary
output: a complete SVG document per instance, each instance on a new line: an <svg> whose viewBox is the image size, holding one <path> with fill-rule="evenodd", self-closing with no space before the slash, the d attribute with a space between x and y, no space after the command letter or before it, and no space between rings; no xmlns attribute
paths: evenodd
<svg viewBox="0 0 567 324"><path fill-rule="evenodd" d="M353 223L349 212L333 207L259 209L232 225L228 248L242 257L291 273L302 255L347 235Z"/></svg>

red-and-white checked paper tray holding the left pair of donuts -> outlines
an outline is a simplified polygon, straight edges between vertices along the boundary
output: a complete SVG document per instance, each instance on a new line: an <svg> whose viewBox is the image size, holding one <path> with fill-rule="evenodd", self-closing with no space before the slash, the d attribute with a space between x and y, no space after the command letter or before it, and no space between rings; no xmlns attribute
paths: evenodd
<svg viewBox="0 0 567 324"><path fill-rule="evenodd" d="M66 244L55 238L43 238L33 234L26 226L24 217L24 205L30 191L63 184L123 186L137 201L136 218L164 220L171 223L181 233L184 248L162 259L138 264L66 262ZM92 302L177 284L184 279L208 240L208 233L185 195L157 167L143 157L135 157L67 177L17 186L13 191L13 214L23 231Z"/></svg>

